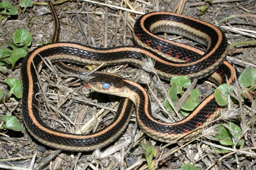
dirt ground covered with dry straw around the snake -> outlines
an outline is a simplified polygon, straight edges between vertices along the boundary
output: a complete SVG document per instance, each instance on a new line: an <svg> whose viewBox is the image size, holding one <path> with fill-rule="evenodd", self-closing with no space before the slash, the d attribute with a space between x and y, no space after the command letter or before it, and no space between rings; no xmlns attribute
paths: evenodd
<svg viewBox="0 0 256 170"><path fill-rule="evenodd" d="M16 0L9 2L13 3L13 5L19 4L19 1ZM256 39L255 0L216 0L213 2L214 4L210 4L208 10L202 15L197 13L200 11L200 6L204 4L203 2L190 0L184 2L185 6L178 5L178 7L183 9L181 14L214 25L229 16L241 15L219 24L219 28L225 33L229 45ZM105 3L111 6L106 6L104 5ZM136 19L141 16L135 12L120 10L117 7L133 8L132 10L140 13L152 11L172 12L176 3L176 0L66 1L54 5L54 7L61 24L60 41L76 42L94 47L114 47L134 45L132 28ZM248 15L245 16L245 14ZM12 35L18 28L26 29L32 35L32 44L29 46L29 50L40 46L42 41L51 42L54 33L52 15L48 11L47 5L44 4L34 4L24 13L19 10L18 15L7 17L0 25L0 45L4 47L8 46L6 41L12 40ZM173 37L173 35L167 35L167 39ZM195 45L194 42L182 38L175 41ZM229 51L227 61L236 68L237 77L246 67L255 68L255 42L233 47ZM8 73L0 73L0 89L2 88L5 94L9 91L9 87L5 83L7 78L20 80L19 67L21 62L22 59L16 63L17 68L9 68ZM40 73L43 93L47 97L47 101L45 101L43 94L40 94L41 117L48 126L62 131L74 132L81 129L90 120L92 123L84 128L84 133L87 133L97 131L110 124L115 113L113 110L103 110L103 116L101 117L96 117L96 114L102 109L102 106L116 110L117 106L112 105L115 104L115 101L120 100L118 97L92 92L88 88L81 87L78 78L57 71L55 66L53 68L53 72L49 68L44 68ZM94 69L95 66L87 66L86 68ZM83 67L82 69L86 68ZM137 74L138 68L130 65L118 65L104 67L101 71L132 79ZM154 79L154 81L153 93L163 104L165 99L163 88L168 90L170 85L167 81L163 81L164 87L162 87L157 79ZM214 86L203 81L198 81L196 87L201 93L200 100L214 90ZM241 87L236 86L236 88ZM151 102L155 102L156 99L150 92L149 94ZM53 106L51 112L47 114L45 111L46 102ZM90 102L94 103L94 105L89 104ZM242 146L224 146L218 141L202 137L190 143L174 142L166 144L156 141L145 135L137 127L134 108L128 128L117 140L100 150L82 153L58 151L34 139L24 126L20 99L11 96L8 100L1 102L0 106L0 117L7 113L14 115L24 128L24 131L19 132L0 129L0 169L4 169L4 166L7 167L5 169L18 169L18 167L20 169L53 170L148 169L141 147L142 139L150 141L156 148L157 156L153 158L155 160L155 169L180 169L182 165L187 163L200 170L256 169L255 128L253 126L255 108L254 111L251 110L251 102L233 104L232 107L235 107L236 111L240 111L237 118L226 120L226 122L218 122L218 124L222 125L233 122L240 127L244 137ZM159 106L154 106L154 111L156 114L162 114L162 109ZM217 146L221 149L227 149L227 153L214 151L213 147Z"/></svg>

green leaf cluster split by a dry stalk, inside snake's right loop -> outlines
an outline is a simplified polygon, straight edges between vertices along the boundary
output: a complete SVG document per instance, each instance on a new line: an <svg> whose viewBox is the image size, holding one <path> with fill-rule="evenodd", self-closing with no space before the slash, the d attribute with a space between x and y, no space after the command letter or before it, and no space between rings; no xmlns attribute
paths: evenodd
<svg viewBox="0 0 256 170"><path fill-rule="evenodd" d="M171 87L168 90L168 96L173 102L173 105L176 106L179 100L178 95L182 95L184 93L184 89L187 89L190 86L191 80L189 80L185 76L177 76L173 77L170 80L170 84ZM188 116L189 112L192 111L200 103L200 101L198 100L199 95L200 94L197 89L192 89L189 92L189 97L187 98L180 110L183 116ZM164 106L168 112L171 113L173 111L167 99L165 99L164 101Z"/></svg>

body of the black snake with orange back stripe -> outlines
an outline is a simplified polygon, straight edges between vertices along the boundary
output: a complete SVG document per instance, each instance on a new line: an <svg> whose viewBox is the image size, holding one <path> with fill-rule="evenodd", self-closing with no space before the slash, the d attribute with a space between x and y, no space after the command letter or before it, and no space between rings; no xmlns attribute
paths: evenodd
<svg viewBox="0 0 256 170"><path fill-rule="evenodd" d="M53 12L53 17L55 20L58 18L55 12ZM59 27L56 27L55 34L59 34L58 29ZM189 45L160 38L154 35L157 32L174 33L187 37L207 46L207 49L203 52ZM123 133L129 123L131 113L130 109L127 109L130 103L126 99L120 105L118 115L113 122L98 132L84 135L50 128L40 117L39 102L36 97L39 92L36 71L44 57L51 62L64 61L82 65L99 65L102 62L108 65L129 63L135 66L143 64L142 58L150 57L155 61L156 73L165 80L176 75L199 79L213 73L217 68L216 72L222 80L225 75L228 77L229 83L234 78L232 65L224 61L227 54L226 37L221 30L207 22L170 12L147 13L136 21L133 38L134 42L141 47L95 48L73 42L56 42L37 47L29 52L21 65L22 114L25 126L32 136L41 143L56 149L89 151L106 146ZM220 111L213 99L213 94L211 94L184 120L172 124L161 123L152 117L150 100L142 87L117 75L102 76L100 74L95 73L92 76L98 76L97 81L101 81L103 77L111 77L112 82L115 78L118 81L121 79L125 87L129 86L133 95L137 97L136 101L134 98L131 99L136 103L137 122L140 128L149 136L160 141L169 142L199 128L215 119ZM92 85L93 82L94 80L90 84ZM182 141L190 140L199 131L185 136Z"/></svg>

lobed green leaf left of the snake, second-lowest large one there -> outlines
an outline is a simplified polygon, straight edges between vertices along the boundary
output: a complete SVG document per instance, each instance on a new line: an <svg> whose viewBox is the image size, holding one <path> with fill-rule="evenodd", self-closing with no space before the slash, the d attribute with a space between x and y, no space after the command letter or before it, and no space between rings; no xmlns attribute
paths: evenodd
<svg viewBox="0 0 256 170"><path fill-rule="evenodd" d="M21 99L22 92L21 92L21 83L19 80L15 78L7 78L6 83L11 88L9 93L6 95L6 97L10 96L11 94L14 94L17 98Z"/></svg>

